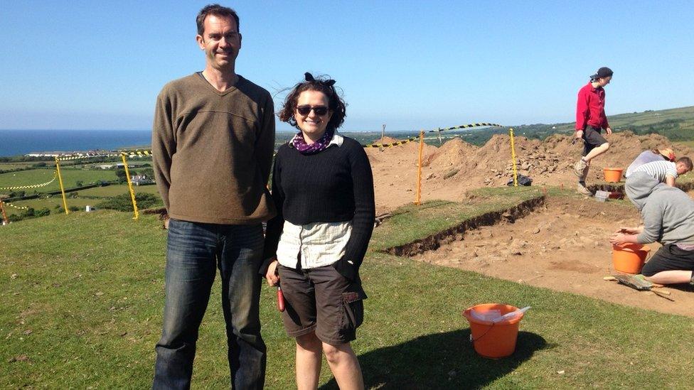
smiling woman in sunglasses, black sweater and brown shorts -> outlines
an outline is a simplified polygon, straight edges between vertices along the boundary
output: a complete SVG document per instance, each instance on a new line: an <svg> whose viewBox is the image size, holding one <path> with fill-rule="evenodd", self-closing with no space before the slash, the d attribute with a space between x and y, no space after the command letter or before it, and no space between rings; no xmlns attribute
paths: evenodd
<svg viewBox="0 0 694 390"><path fill-rule="evenodd" d="M373 231L373 176L361 144L337 132L346 112L335 80L305 77L279 112L299 132L274 161L277 217L267 222L265 277L282 283L297 387L316 389L325 354L341 389L363 389L350 342L363 320L358 271Z"/></svg>

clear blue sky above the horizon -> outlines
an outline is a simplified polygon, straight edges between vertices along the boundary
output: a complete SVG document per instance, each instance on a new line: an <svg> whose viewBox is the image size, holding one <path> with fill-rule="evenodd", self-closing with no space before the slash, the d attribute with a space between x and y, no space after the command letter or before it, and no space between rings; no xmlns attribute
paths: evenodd
<svg viewBox="0 0 694 390"><path fill-rule="evenodd" d="M161 87L204 67L205 4L0 0L0 129L149 129ZM608 116L694 105L690 1L222 4L241 18L237 72L273 94L331 75L348 131L572 121L604 65Z"/></svg>

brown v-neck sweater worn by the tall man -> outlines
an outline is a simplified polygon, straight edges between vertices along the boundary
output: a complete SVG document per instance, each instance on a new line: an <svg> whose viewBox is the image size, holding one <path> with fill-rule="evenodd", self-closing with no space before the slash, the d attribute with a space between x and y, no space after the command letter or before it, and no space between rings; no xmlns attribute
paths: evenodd
<svg viewBox="0 0 694 390"><path fill-rule="evenodd" d="M194 73L156 99L154 175L169 216L213 224L255 224L275 215L267 191L274 151L269 92L239 76L219 92Z"/></svg>

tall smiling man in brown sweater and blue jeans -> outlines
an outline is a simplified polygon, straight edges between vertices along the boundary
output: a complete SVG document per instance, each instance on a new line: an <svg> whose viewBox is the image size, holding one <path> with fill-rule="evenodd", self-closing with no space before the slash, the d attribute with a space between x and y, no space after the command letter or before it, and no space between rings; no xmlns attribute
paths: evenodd
<svg viewBox="0 0 694 390"><path fill-rule="evenodd" d="M235 72L235 11L205 6L196 21L205 70L165 85L154 113L154 174L171 220L153 388L190 387L198 327L219 269L232 386L262 389L258 269L261 222L275 215L266 188L274 106L266 90Z"/></svg>

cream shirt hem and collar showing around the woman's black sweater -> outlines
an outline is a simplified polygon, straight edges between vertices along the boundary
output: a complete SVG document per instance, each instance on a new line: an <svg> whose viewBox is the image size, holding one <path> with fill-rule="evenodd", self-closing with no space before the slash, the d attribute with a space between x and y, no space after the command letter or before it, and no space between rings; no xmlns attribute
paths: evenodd
<svg viewBox="0 0 694 390"><path fill-rule="evenodd" d="M293 141L293 140L292 140ZM289 141L289 143L292 143ZM336 131L328 146L342 146L343 138ZM352 222L314 222L292 224L284 221L277 244L277 261L296 269L301 254L301 269L329 266L345 255L352 232Z"/></svg>

